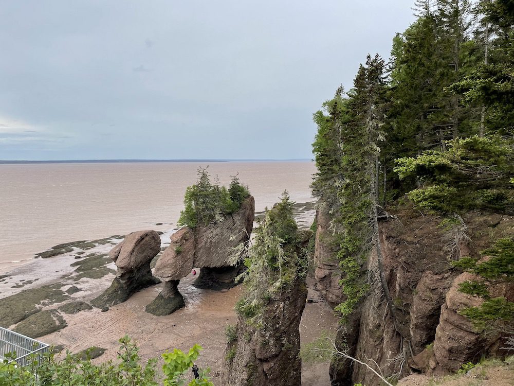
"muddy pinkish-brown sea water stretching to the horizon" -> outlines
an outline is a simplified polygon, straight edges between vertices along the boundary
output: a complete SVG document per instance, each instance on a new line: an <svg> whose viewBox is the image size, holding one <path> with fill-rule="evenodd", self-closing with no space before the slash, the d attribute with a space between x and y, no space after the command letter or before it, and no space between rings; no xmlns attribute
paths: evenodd
<svg viewBox="0 0 514 386"><path fill-rule="evenodd" d="M199 166L207 163L0 165L0 272L62 242L172 229ZM239 173L258 212L284 189L311 201L316 171L312 162L214 162L208 170L222 184Z"/></svg>

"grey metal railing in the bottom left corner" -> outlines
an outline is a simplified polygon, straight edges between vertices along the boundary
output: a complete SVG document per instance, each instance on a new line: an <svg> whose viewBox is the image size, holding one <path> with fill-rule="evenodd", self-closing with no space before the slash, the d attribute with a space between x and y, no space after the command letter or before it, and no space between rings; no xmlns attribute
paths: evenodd
<svg viewBox="0 0 514 386"><path fill-rule="evenodd" d="M9 359L9 363L15 361L19 366L26 366L34 359L40 361L49 350L50 346L46 343L0 327L0 360L14 353L16 359Z"/></svg>

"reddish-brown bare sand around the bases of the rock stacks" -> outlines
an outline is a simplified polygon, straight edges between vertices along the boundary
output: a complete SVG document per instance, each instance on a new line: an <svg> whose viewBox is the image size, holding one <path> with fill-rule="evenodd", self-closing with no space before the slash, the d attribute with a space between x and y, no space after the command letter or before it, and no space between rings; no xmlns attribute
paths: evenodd
<svg viewBox="0 0 514 386"><path fill-rule="evenodd" d="M98 280L94 281L97 282L97 290L89 289L86 296L79 292L81 300L88 301L103 291ZM104 284L106 287L109 280L104 281L107 282ZM181 280L179 290L186 298L186 307L171 315L156 317L144 311L146 304L159 293L161 285L157 285L138 292L107 312L93 309L64 315L68 327L39 339L53 345L64 345L72 353L91 346L106 348L105 354L97 361L116 359L118 339L125 334L138 343L144 360L158 357L173 348L187 350L197 343L204 348L197 362L202 367L211 367L216 384L216 375L224 362L225 327L236 322L233 307L241 295L242 287L235 287L228 292L200 290L191 285L192 281L191 275ZM78 286L81 287L80 283ZM309 297L319 299L311 286ZM302 344L318 338L322 331L331 331L335 335L336 328L337 318L326 303L306 304L300 327ZM328 363L304 364L302 384L329 386Z"/></svg>

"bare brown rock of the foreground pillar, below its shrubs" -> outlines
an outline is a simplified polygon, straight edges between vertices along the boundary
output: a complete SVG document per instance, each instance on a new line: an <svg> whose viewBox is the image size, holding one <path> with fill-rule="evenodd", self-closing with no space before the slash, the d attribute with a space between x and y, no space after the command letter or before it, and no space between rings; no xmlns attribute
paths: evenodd
<svg viewBox="0 0 514 386"><path fill-rule="evenodd" d="M297 278L263 310L261 328L237 320L237 336L225 352L227 368L221 384L226 386L300 386L300 319L307 288Z"/></svg>

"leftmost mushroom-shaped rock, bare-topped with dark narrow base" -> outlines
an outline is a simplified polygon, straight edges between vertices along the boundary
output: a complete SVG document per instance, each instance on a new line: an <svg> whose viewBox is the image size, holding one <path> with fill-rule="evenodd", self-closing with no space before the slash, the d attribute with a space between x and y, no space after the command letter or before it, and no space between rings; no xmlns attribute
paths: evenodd
<svg viewBox="0 0 514 386"><path fill-rule="evenodd" d="M104 293L91 305L97 308L111 307L125 302L137 291L160 283L152 276L150 261L160 252L160 237L155 231L139 231L128 234L109 252L115 261L116 277Z"/></svg>

